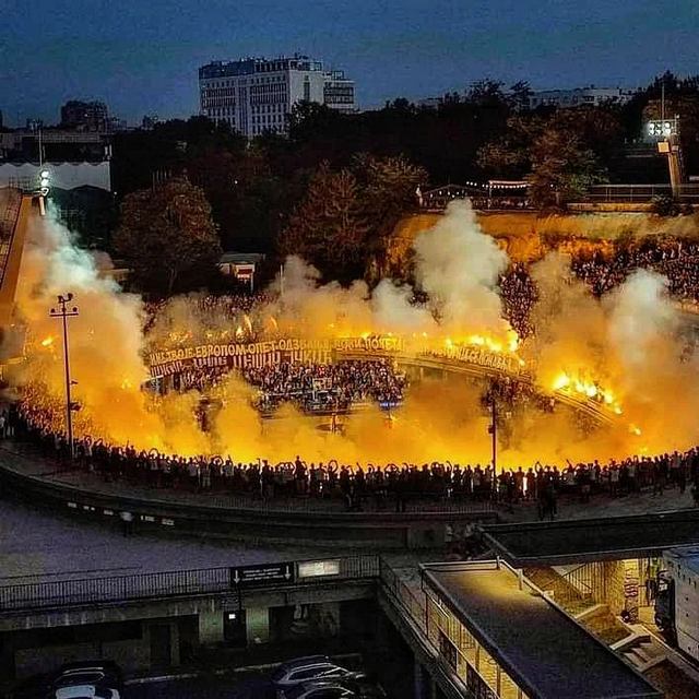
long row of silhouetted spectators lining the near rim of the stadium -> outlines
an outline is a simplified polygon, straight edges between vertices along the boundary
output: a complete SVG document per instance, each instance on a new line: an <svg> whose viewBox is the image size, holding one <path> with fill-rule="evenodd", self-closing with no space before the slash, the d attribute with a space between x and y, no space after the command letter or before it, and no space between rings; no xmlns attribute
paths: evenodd
<svg viewBox="0 0 699 699"><path fill-rule="evenodd" d="M155 449L108 445L85 436L74 440L73 458L64 435L56 434L38 411L17 410L0 414L0 437L12 437L37 449L44 458L95 473L107 481L123 481L152 488L173 488L199 494L247 496L272 502L279 498L335 499L348 510L395 508L405 512L426 501L445 505L491 502L514 507L536 503L540 518L554 519L561 497L588 502L592 497L684 494L691 488L699 507L699 447L686 452L624 460L568 463L566 467L542 464L494 470L491 464L429 463L358 464L336 459L308 462L296 455L271 463L236 461L232 457L179 457Z"/></svg>

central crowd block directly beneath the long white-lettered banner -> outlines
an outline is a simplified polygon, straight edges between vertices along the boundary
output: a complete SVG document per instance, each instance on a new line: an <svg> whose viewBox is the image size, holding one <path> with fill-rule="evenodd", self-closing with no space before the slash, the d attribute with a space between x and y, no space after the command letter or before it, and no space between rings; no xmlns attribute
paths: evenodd
<svg viewBox="0 0 699 699"><path fill-rule="evenodd" d="M282 362L242 370L259 390L258 407L272 411L293 402L307 412L346 411L355 403L394 406L403 401L407 380L388 359L300 364Z"/></svg>

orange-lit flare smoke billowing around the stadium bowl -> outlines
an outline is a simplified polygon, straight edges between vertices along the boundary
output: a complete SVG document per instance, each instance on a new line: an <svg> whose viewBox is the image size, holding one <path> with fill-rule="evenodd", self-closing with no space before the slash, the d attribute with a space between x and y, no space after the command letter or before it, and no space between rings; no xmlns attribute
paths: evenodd
<svg viewBox="0 0 699 699"><path fill-rule="evenodd" d="M470 204L452 203L434 228L418 236L414 251L414 276L428 295L426 306L413 304L414 289L392 280L372 291L363 281L347 288L322 284L316 270L289 258L283 295L277 280L272 300L253 310L253 322L265 330L274 323L280 333L294 336L393 332L467 342L487 335L507 347L513 331L503 318L497 285L508 258L479 230ZM623 411L613 427L590 439L581 436L568 413L518 416L518 437L500 463L603 459L694 445L697 367L695 359L680 362L679 319L663 280L637 272L599 301L571 277L562 256L548 256L533 275L540 288L534 310L538 330L520 352L531 360L534 380L546 391L561 375L569 381L599 382L614 392L614 405ZM28 352L9 378L29 402L62 401L60 329L48 310L56 295L68 291L80 307L80 316L70 321L74 398L82 406L78 435L183 455L229 453L236 461L261 457L276 462L297 453L308 460L363 464L489 459L479 391L455 378L414 386L390 426L377 408L348 417L340 435L317 429L312 418L291 406L282 408L285 419L261 420L251 405L250 387L230 375L215 424L202 431L194 416L199 393L154 398L141 390L149 378L146 345L173 334L235 333L229 318L202 309L194 297L178 297L146 332L141 298L123 293L98 270L96 258L78 249L50 217L33 222L17 289L17 320L27 327Z"/></svg>

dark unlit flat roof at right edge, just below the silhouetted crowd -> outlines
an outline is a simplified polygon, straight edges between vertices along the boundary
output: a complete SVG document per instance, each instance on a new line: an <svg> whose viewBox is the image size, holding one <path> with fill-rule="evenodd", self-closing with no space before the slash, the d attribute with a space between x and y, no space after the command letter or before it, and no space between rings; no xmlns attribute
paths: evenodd
<svg viewBox="0 0 699 699"><path fill-rule="evenodd" d="M699 511L493 524L483 532L486 543L516 567L619 560L699 545Z"/></svg>

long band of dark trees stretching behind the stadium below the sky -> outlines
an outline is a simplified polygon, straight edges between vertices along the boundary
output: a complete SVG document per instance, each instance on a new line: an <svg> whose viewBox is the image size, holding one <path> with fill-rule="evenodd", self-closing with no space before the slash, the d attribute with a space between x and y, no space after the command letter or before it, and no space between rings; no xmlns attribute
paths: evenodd
<svg viewBox="0 0 699 699"><path fill-rule="evenodd" d="M664 162L642 137L663 88L696 171L699 76L670 72L624 105L530 109L526 83L506 90L483 80L436 108L395 99L346 115L303 103L288 137L248 141L204 117L120 133L112 159L120 215L107 245L155 295L211 283L221 250L264 252L271 269L297 252L328 279L371 280L395 223L416 205L417 186L526 178L533 203L549 209L595 182L665 181ZM643 150L637 167L628 155Z"/></svg>

